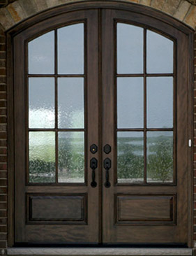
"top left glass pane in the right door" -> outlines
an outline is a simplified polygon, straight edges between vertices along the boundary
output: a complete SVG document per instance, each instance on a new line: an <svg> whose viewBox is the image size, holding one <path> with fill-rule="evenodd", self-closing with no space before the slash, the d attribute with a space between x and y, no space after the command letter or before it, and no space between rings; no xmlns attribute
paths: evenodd
<svg viewBox="0 0 196 256"><path fill-rule="evenodd" d="M117 23L117 73L143 73L144 29Z"/></svg>

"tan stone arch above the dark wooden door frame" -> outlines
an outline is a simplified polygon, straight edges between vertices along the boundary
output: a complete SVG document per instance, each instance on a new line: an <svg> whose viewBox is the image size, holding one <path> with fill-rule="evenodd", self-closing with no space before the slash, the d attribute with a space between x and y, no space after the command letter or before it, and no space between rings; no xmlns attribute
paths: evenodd
<svg viewBox="0 0 196 256"><path fill-rule="evenodd" d="M0 9L0 25L4 31L27 20L44 10L68 3L86 2L87 0L15 0ZM186 0L119 0L149 6L166 13L193 29L196 28L196 6Z"/></svg>

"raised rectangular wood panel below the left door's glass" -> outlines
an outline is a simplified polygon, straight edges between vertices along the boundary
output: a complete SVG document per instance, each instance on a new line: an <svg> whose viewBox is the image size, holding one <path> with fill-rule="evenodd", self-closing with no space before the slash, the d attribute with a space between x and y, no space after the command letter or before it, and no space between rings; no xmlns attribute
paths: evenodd
<svg viewBox="0 0 196 256"><path fill-rule="evenodd" d="M27 222L86 222L86 194L27 194Z"/></svg>

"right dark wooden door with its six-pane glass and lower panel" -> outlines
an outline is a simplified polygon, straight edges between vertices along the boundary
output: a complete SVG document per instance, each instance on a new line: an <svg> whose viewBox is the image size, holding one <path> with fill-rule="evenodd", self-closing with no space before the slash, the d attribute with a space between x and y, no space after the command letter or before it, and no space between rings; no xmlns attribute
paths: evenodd
<svg viewBox="0 0 196 256"><path fill-rule="evenodd" d="M184 245L186 35L123 10L103 10L102 25L103 243Z"/></svg>

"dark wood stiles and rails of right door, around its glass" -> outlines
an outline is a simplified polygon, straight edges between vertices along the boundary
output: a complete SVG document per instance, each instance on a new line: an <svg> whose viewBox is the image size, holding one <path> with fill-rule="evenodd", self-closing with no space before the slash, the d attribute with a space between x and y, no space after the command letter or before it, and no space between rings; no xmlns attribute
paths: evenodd
<svg viewBox="0 0 196 256"><path fill-rule="evenodd" d="M177 52L177 69L176 69L176 127L174 127L174 136L176 129L176 183L169 184L149 184L149 185L131 185L131 184L117 184L116 185L116 102L115 102L115 83L116 83L116 69L115 69L115 22L126 22L139 26L144 26L147 29L157 31L164 36L176 41ZM112 160L112 170L110 170L110 188L103 185L103 243L178 243L188 244L188 38L186 34L172 27L169 24L155 20L153 17L146 18L144 15L138 13L128 13L123 10L103 10L103 144L112 146L112 152L105 155L103 152L103 159L110 157ZM110 51L108 50L110 48ZM144 73L145 76L145 73ZM153 129L156 130L156 129ZM175 148L174 148L175 151ZM175 155L174 155L175 156ZM103 169L103 177L105 170ZM103 180L104 184L105 180ZM169 223L155 223L154 225L142 225L135 223L125 223L124 225L115 224L118 220L117 213L119 211L123 214L123 218L129 215L132 216L132 205L128 201L121 204L120 210L115 200L115 194L121 194L121 197L137 194L138 197L148 196L165 197L166 194L176 194L176 203L174 203L174 218ZM144 201L143 201L144 202ZM134 202L136 206L133 213L140 216L142 212L138 206L139 202ZM160 214L160 204L158 200L151 200L151 206L146 208L146 213L153 216L157 212ZM164 203L165 204L165 203ZM173 203L172 203L173 204ZM176 206L175 206L176 205ZM168 208L168 207L167 207ZM138 209L138 210L137 210ZM163 209L163 208L162 208ZM143 210L144 213L145 210ZM140 213L139 213L140 212ZM167 215L166 215L167 216ZM130 222L130 221L129 221ZM172 225L171 225L172 223ZM168 224L168 225L167 225Z"/></svg>

